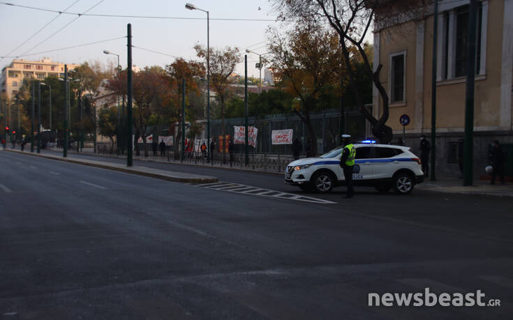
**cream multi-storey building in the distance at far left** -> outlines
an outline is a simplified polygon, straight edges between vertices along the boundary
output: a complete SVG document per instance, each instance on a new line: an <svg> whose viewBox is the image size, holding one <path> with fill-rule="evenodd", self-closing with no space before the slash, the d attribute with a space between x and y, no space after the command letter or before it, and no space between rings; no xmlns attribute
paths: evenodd
<svg viewBox="0 0 513 320"><path fill-rule="evenodd" d="M68 70L73 70L77 66L79 65L68 64ZM53 62L49 58L40 61L13 60L9 66L2 69L0 89L11 98L21 88L24 79L44 80L49 76L64 77L64 63Z"/></svg>

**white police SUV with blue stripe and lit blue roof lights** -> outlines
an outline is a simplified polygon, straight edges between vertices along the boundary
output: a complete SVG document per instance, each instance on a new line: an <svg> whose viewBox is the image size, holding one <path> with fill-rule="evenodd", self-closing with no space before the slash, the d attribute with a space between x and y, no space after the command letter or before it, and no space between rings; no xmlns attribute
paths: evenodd
<svg viewBox="0 0 513 320"><path fill-rule="evenodd" d="M408 195L415 184L424 181L419 158L406 146L389 144L355 144L353 185L373 186L380 192L394 191ZM305 191L327 193L345 185L339 162L342 148L335 148L319 158L290 162L285 170L285 183Z"/></svg>

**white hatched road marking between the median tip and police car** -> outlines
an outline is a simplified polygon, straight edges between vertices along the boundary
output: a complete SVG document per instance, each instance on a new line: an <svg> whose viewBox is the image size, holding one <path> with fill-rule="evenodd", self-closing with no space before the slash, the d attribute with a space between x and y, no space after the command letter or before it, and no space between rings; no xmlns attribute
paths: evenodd
<svg viewBox="0 0 513 320"><path fill-rule="evenodd" d="M336 204L336 202L328 201L325 199L319 199L314 197L306 197L304 195L295 195L293 193L281 192L270 189L263 189L253 187L251 185L243 185L240 183L230 183L230 182L216 182L216 183L205 183L202 185L197 185L201 188L212 189L212 190L220 190L224 192L235 192L241 193L244 195L256 195L260 197L272 197L276 199L288 199L295 201L305 201L312 202L315 204Z"/></svg>

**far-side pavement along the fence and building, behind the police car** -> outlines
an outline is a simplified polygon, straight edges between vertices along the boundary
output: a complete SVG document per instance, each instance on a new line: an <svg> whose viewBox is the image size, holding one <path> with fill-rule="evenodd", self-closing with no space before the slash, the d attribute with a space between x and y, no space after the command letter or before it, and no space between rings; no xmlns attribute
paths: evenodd
<svg viewBox="0 0 513 320"><path fill-rule="evenodd" d="M56 152L61 152L61 150ZM71 151L72 153L75 151ZM77 153L73 153L73 155L77 155ZM124 156L117 156L117 155L97 155L92 152L92 149L84 150L84 152L81 155L90 155L90 156L96 156L96 157L103 157L103 158L119 158L119 159L126 159ZM161 156L154 156L151 155L149 157L144 156L134 156L135 160L139 161L145 161L145 162L161 162L161 163L174 163L179 164L179 161L168 161L167 157L161 157ZM210 168L223 168L223 169L230 169L233 171L248 171L248 172L266 172L269 173L268 170L263 169L251 169L251 168L241 168L241 167L230 167L230 165L208 165L208 164L202 164L198 163L195 164L194 162L191 163L183 163L181 164L182 167L184 166L195 166L195 167L210 167ZM278 173L275 172L275 174L278 174L279 176L283 175L283 172ZM455 195L482 195L482 196L493 196L493 197L513 197L513 183L507 183L505 185L501 185L500 183L497 183L495 185L491 185L489 181L482 181L479 180L479 177L474 178L473 185L470 186L463 186L463 180L459 178L452 178L452 177L438 177L437 181L430 181L429 178L426 178L426 181L424 183L417 185L418 190L425 190L429 192L439 192L439 193L447 193L447 194L455 194Z"/></svg>

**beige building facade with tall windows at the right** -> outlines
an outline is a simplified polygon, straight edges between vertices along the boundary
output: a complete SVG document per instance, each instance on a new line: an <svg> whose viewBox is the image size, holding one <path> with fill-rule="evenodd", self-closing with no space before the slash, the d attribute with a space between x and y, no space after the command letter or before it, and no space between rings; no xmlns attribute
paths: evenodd
<svg viewBox="0 0 513 320"><path fill-rule="evenodd" d="M469 0L438 2L436 65L437 172L459 175L459 144L466 104L466 43ZM431 135L433 6L421 15L386 23L374 30L373 65L382 65L380 80L389 96L388 125L402 137L399 118L407 114L406 145L418 151L419 136ZM376 13L385 15L385 10ZM474 172L482 174L493 139L513 144L513 0L479 1L474 101ZM382 114L382 99L373 88L373 115ZM510 148L510 146L506 146ZM508 149L509 150L509 149ZM511 152L511 151L508 151ZM508 154L511 158L511 155ZM511 167L510 167L511 168ZM509 169L511 171L511 169ZM509 172L509 174L512 174Z"/></svg>

